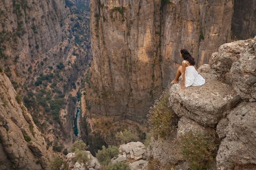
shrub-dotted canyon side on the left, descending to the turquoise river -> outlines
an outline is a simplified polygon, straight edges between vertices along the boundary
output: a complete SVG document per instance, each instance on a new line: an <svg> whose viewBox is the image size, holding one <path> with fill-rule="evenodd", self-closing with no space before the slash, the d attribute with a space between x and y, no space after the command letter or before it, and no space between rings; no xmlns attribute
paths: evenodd
<svg viewBox="0 0 256 170"><path fill-rule="evenodd" d="M85 9L68 0L0 2L0 72L44 134L47 149L55 152L76 139L76 96L91 60Z"/></svg>

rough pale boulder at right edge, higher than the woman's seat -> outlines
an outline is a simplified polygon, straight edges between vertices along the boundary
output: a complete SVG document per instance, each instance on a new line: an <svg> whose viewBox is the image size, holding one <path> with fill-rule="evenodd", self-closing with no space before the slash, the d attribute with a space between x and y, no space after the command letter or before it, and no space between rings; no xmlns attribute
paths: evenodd
<svg viewBox="0 0 256 170"><path fill-rule="evenodd" d="M256 38L223 44L209 64L242 99L256 101Z"/></svg>

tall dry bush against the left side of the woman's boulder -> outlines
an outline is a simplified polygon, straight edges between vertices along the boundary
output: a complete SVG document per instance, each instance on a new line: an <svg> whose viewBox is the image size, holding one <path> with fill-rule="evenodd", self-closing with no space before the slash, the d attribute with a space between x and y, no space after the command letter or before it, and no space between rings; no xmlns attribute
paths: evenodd
<svg viewBox="0 0 256 170"><path fill-rule="evenodd" d="M169 106L169 93L168 90L164 91L159 99L150 107L148 113L148 123L153 137L157 138L158 135L162 139L177 126L177 116L172 113Z"/></svg>

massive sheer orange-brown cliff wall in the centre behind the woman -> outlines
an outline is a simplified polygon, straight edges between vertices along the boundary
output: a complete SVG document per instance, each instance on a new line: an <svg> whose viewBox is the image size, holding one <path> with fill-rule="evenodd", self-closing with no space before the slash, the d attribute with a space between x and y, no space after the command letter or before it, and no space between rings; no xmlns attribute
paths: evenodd
<svg viewBox="0 0 256 170"><path fill-rule="evenodd" d="M91 129L92 117L145 125L148 109L180 65L180 49L188 49L197 65L207 63L229 41L232 11L232 0L92 0L93 62L83 101Z"/></svg>

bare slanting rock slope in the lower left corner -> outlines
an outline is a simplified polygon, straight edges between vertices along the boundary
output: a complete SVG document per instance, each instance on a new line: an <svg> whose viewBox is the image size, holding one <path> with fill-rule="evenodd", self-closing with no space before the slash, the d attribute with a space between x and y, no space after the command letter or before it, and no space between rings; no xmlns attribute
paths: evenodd
<svg viewBox="0 0 256 170"><path fill-rule="evenodd" d="M3 73L0 87L0 169L47 170L52 153Z"/></svg>

